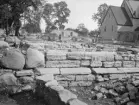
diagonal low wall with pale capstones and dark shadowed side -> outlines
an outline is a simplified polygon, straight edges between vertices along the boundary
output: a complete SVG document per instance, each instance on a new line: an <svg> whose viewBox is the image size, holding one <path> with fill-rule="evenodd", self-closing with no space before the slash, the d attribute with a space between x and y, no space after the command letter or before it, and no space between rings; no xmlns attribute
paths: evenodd
<svg viewBox="0 0 139 105"><path fill-rule="evenodd" d="M36 78L36 95L44 98L48 105L87 105L77 96L58 84L52 74Z"/></svg>

